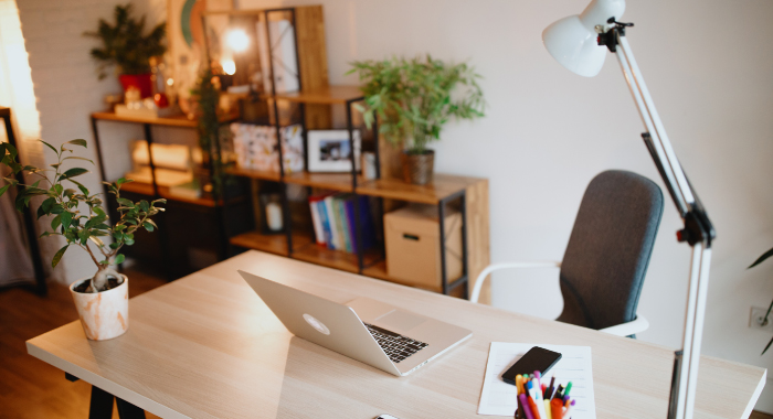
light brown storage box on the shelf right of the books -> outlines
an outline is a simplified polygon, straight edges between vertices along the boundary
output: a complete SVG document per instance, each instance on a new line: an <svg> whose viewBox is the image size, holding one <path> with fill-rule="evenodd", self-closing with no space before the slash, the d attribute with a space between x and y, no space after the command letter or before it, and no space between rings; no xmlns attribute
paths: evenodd
<svg viewBox="0 0 773 419"><path fill-rule="evenodd" d="M462 277L462 214L446 211L445 257L448 282ZM440 291L441 232L437 207L412 205L384 215L386 273L398 282Z"/></svg>

